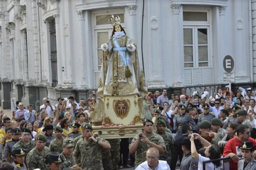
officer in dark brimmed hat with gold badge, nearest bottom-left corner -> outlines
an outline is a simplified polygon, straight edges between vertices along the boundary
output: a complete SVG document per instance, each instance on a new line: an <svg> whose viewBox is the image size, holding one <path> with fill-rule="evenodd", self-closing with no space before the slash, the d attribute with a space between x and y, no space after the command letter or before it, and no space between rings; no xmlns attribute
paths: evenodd
<svg viewBox="0 0 256 170"><path fill-rule="evenodd" d="M12 150L12 156L13 156L13 163L14 170L27 170L26 165L24 164L25 161L25 151L20 149Z"/></svg>

